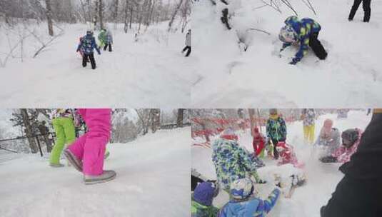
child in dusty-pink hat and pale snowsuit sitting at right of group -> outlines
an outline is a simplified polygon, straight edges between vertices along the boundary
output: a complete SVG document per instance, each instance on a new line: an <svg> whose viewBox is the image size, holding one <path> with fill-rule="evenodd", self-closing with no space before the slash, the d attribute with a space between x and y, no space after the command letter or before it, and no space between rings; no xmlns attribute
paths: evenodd
<svg viewBox="0 0 382 217"><path fill-rule="evenodd" d="M341 132L338 128L333 128L333 121L326 119L323 122L320 135L317 138L315 146L325 149L325 156L330 156L339 146L341 146Z"/></svg>

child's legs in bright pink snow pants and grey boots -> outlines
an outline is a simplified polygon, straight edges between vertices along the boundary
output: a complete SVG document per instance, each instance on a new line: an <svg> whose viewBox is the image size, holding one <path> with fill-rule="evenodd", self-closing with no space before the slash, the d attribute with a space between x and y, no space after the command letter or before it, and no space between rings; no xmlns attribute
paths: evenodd
<svg viewBox="0 0 382 217"><path fill-rule="evenodd" d="M88 132L66 148L64 154L77 171L84 173L85 184L111 181L115 171L104 171L106 143L110 139L111 109L79 109Z"/></svg>

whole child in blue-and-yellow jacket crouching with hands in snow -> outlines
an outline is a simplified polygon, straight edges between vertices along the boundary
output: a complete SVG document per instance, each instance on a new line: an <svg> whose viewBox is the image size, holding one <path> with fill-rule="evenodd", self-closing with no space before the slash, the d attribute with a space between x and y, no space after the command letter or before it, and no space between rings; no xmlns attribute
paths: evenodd
<svg viewBox="0 0 382 217"><path fill-rule="evenodd" d="M280 52L292 44L300 45L296 56L289 64L295 65L301 61L303 56L308 53L309 46L318 59L326 59L328 53L326 53L325 48L323 48L321 42L318 40L318 34L321 31L320 24L310 18L298 20L297 16L289 16L284 23L286 26L281 28L280 34L278 35L278 39L283 41L283 47Z"/></svg>

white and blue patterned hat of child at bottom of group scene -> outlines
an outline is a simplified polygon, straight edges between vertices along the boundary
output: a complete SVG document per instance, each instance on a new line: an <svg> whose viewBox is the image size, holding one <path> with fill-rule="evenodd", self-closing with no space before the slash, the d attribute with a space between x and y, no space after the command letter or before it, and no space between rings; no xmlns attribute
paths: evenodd
<svg viewBox="0 0 382 217"><path fill-rule="evenodd" d="M231 197L237 200L248 198L253 193L253 189L250 178L240 178L231 183Z"/></svg>

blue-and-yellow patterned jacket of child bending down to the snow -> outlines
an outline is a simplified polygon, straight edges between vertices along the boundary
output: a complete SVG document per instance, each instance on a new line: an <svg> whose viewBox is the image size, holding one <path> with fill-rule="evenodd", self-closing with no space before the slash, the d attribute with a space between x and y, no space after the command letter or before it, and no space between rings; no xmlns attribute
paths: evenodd
<svg viewBox="0 0 382 217"><path fill-rule="evenodd" d="M308 52L309 39L311 34L321 31L321 26L313 19L304 18L298 20L297 16L288 17L288 19L285 21L285 24L292 26L293 30L298 34L298 43L300 44L300 49L298 49L293 61L301 61L303 56L305 56ZM291 43L284 43L283 49L285 49L287 46L291 46Z"/></svg>

